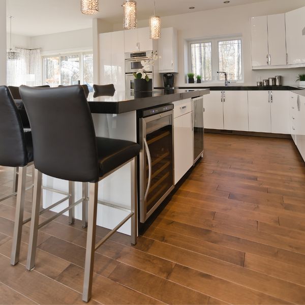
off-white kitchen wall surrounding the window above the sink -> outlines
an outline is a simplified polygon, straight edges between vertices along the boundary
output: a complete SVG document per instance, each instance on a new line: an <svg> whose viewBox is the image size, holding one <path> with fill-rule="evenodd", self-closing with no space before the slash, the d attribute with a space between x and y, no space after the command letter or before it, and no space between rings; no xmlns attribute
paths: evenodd
<svg viewBox="0 0 305 305"><path fill-rule="evenodd" d="M162 17L162 27L173 26L178 29L179 74L176 77L176 85L185 85L185 71L188 70L188 68L185 69L185 40L233 34L242 35L244 84L255 85L259 77L264 79L269 76L283 75L284 84L295 85L296 75L301 72L305 73L305 68L252 71L250 17L285 13L302 6L305 6L305 0L270 0ZM138 21L138 26L148 26L148 20ZM122 29L121 23L115 24L113 27L114 31L120 29Z"/></svg>

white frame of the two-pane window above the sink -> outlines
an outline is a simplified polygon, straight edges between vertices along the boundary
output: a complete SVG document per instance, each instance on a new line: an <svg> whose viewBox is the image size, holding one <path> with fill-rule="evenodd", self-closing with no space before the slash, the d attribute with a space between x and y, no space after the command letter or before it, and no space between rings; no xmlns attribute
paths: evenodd
<svg viewBox="0 0 305 305"><path fill-rule="evenodd" d="M240 35L234 35L234 36L217 36L217 37L209 37L209 38L202 38L202 39L192 39L188 40L188 71L192 71L192 44L194 43L208 43L211 42L211 66L212 66L212 80L210 81L204 81L201 80L201 84L203 83L223 83L222 80L220 80L219 74L217 71L219 71L219 42L221 41L231 41L231 40L240 40L240 56L241 56L241 79L240 80L231 80L231 82L234 83L243 83L244 82L244 70L243 70L243 41L242 37ZM188 73L188 72L187 72ZM195 76L196 78L196 76ZM230 79L229 79L230 80ZM196 84L196 82L195 82Z"/></svg>

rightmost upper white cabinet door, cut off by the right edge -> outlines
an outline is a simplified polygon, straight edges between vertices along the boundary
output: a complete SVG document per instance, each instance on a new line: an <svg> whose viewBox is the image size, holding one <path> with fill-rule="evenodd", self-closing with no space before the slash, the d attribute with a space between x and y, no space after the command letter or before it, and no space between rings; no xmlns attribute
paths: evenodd
<svg viewBox="0 0 305 305"><path fill-rule="evenodd" d="M286 13L288 64L305 63L305 7Z"/></svg>

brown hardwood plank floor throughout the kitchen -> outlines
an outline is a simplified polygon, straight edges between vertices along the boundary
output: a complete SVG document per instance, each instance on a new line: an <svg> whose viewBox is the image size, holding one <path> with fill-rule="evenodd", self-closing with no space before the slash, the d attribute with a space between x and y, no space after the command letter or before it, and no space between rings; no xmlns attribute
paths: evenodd
<svg viewBox="0 0 305 305"><path fill-rule="evenodd" d="M0 196L12 173L0 167ZM0 202L0 303L82 303L85 229L65 216L44 227L29 272L27 224L13 267L15 200ZM116 233L97 251L90 303L304 304L304 274L305 164L292 140L206 134L204 158L137 246Z"/></svg>

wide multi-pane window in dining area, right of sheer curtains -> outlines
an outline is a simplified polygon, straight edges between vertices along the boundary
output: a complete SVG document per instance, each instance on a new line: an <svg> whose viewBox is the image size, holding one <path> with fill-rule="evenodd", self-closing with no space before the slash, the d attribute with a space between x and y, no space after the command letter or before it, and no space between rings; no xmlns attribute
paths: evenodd
<svg viewBox="0 0 305 305"><path fill-rule="evenodd" d="M43 57L43 82L58 85L87 84L93 91L93 54L73 53Z"/></svg>

